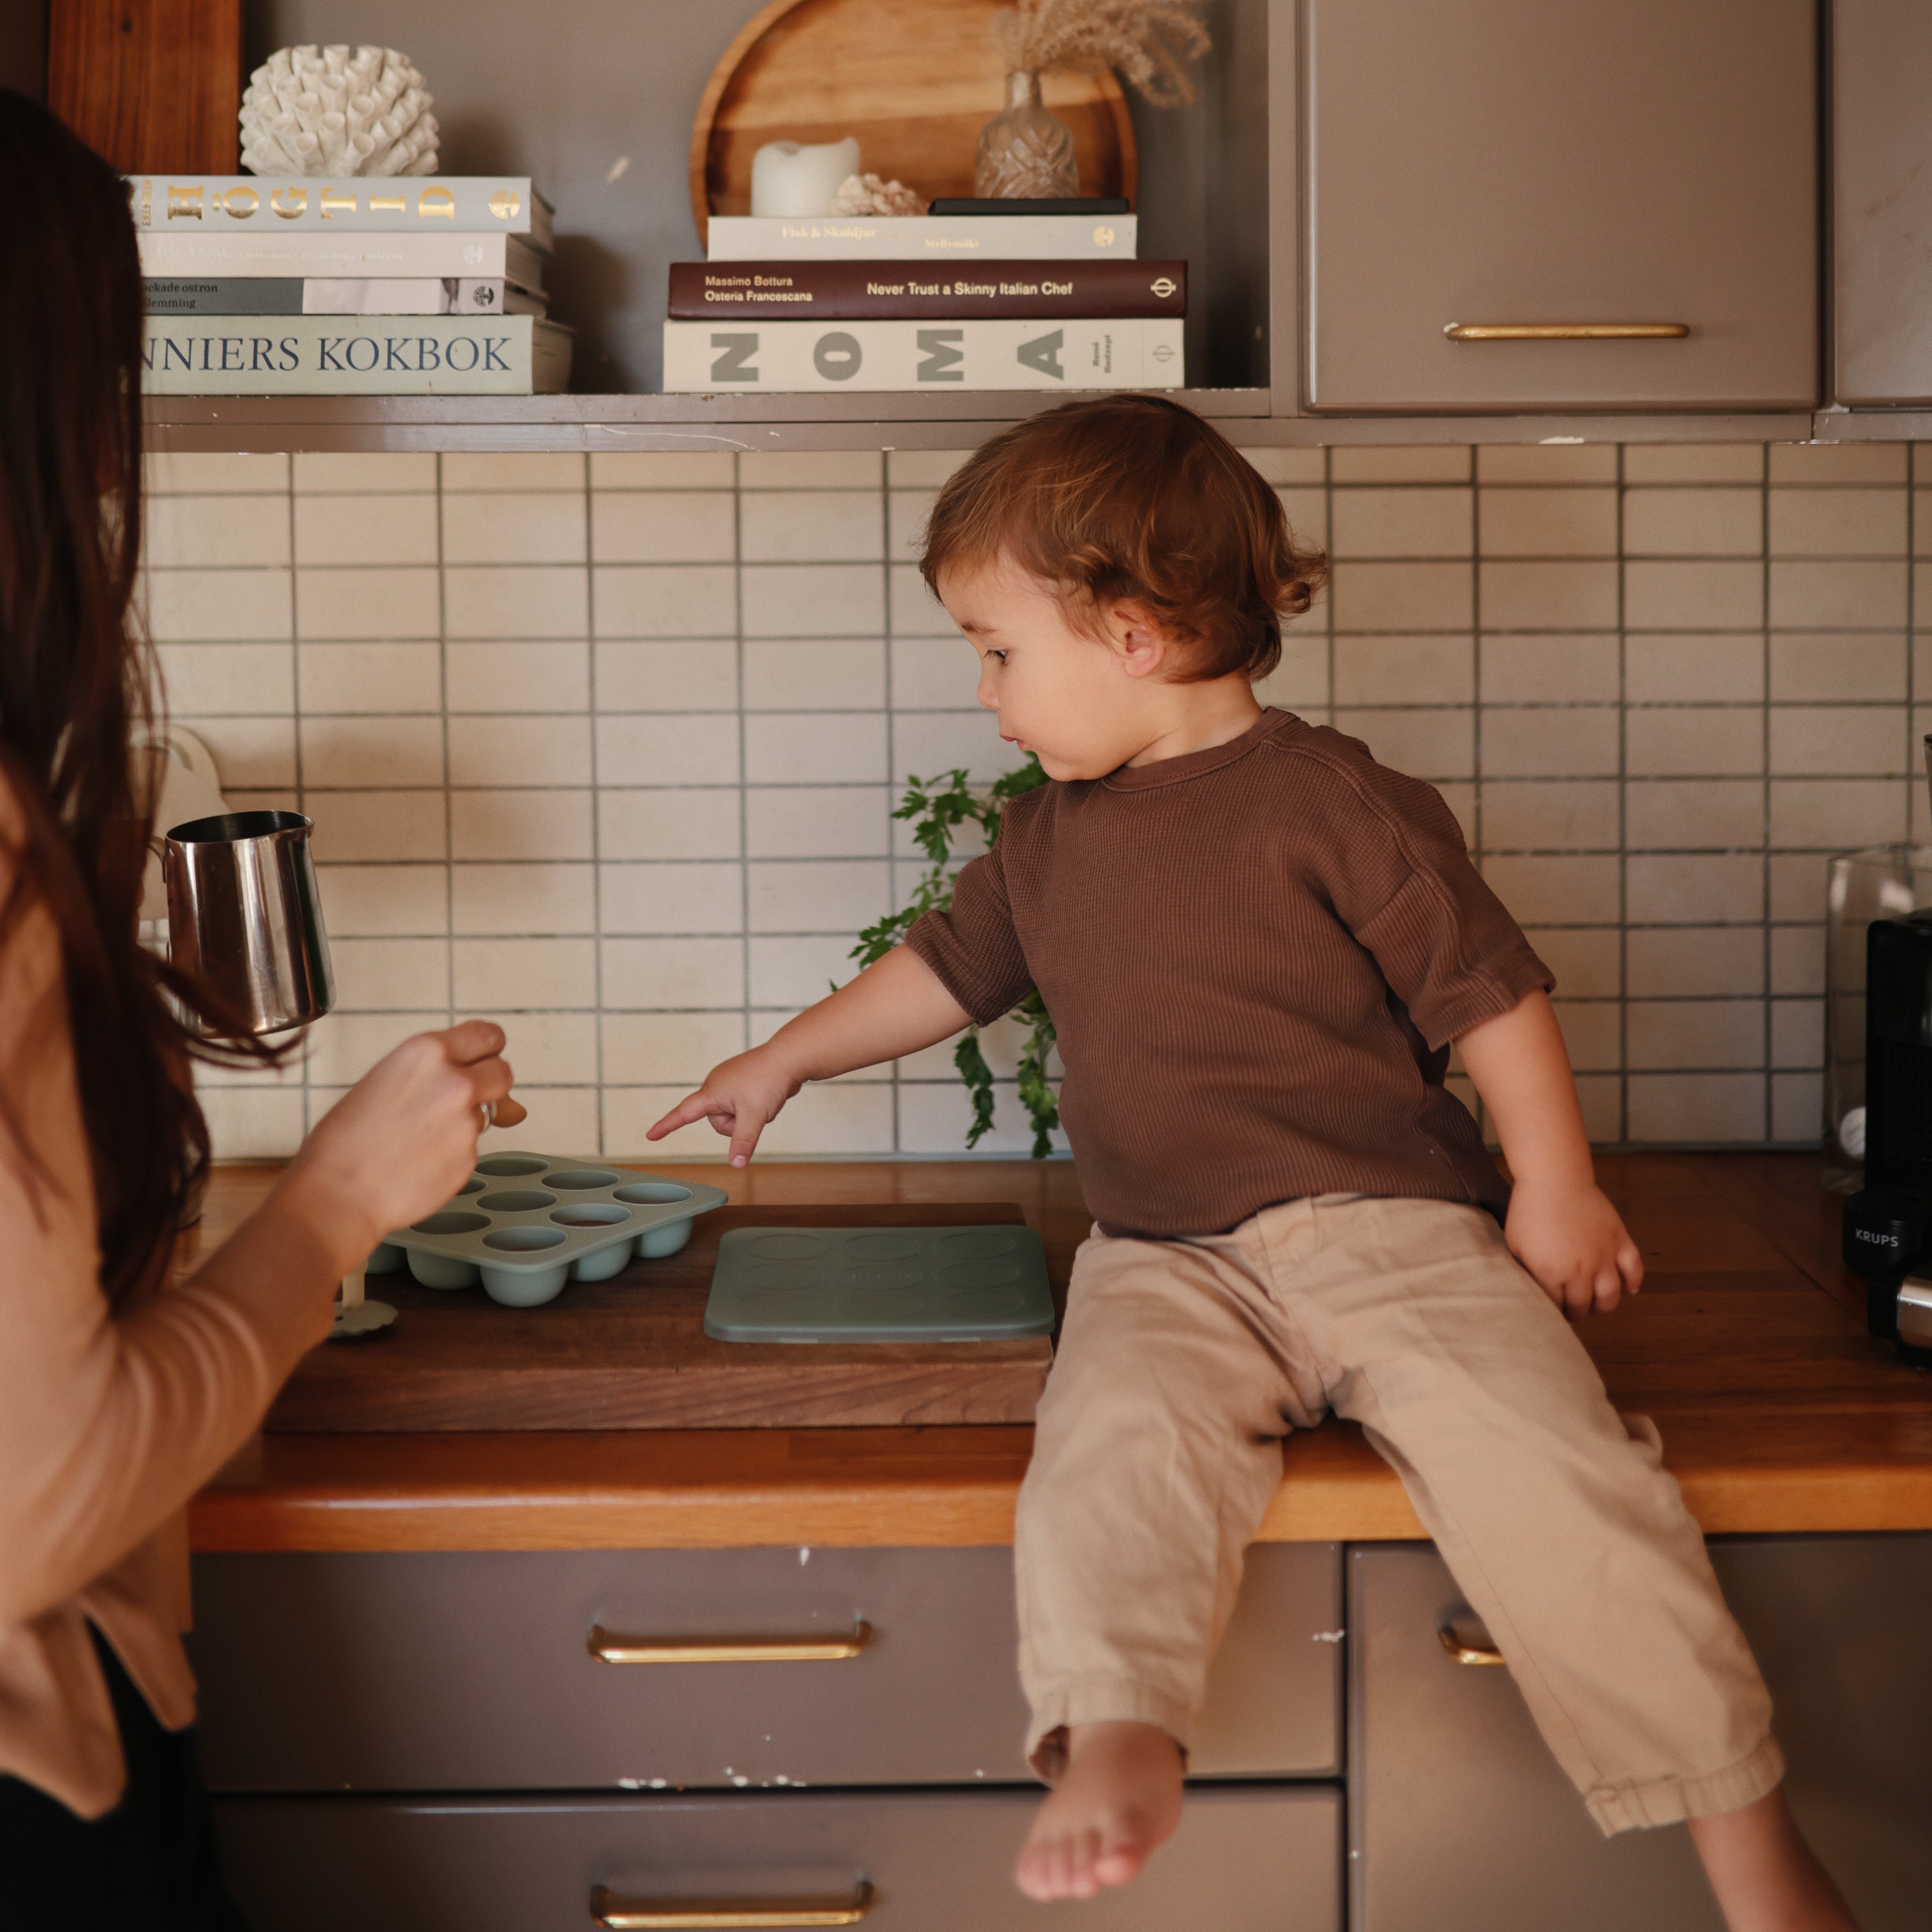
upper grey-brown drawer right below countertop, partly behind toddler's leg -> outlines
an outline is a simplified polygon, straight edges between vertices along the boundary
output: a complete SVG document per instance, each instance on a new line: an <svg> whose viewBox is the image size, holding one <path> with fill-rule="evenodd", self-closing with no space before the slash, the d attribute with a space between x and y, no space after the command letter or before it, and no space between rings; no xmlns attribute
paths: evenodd
<svg viewBox="0 0 1932 1932"><path fill-rule="evenodd" d="M626 1636L871 1642L844 1662L601 1663ZM1010 1549L209 1555L216 1791L556 1791L1024 1779ZM1198 1776L1339 1766L1341 1553L1264 1544Z"/></svg>

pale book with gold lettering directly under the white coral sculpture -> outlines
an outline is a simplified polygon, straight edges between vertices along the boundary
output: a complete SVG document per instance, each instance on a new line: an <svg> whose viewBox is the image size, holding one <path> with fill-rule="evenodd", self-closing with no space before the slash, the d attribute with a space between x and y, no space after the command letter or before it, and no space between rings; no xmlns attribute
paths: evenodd
<svg viewBox="0 0 1932 1932"><path fill-rule="evenodd" d="M294 228L340 234L469 230L527 236L551 253L554 211L527 174L124 174L141 234Z"/></svg>

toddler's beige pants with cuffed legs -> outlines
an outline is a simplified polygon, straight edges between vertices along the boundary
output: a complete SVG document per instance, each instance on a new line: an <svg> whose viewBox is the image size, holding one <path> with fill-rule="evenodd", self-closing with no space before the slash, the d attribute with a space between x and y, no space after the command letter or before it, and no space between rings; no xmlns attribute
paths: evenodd
<svg viewBox="0 0 1932 1932"><path fill-rule="evenodd" d="M1182 1745L1281 1439L1333 1410L1403 1478L1604 1832L1735 1810L1783 1760L1656 1430L1623 1420L1478 1208L1321 1196L1233 1233L1095 1233L1020 1492L1028 1758Z"/></svg>

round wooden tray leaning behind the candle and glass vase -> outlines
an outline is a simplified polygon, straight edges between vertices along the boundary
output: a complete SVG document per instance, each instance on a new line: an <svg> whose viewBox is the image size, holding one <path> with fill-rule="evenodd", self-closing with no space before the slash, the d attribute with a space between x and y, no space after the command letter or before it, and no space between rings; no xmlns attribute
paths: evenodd
<svg viewBox="0 0 1932 1932"><path fill-rule="evenodd" d="M1005 102L1003 0L771 0L711 70L692 124L692 214L752 213L765 141L858 135L860 166L931 199L970 195L980 129ZM914 15L914 17L908 17ZM1134 124L1113 73L1047 73L1084 195L1134 197Z"/></svg>

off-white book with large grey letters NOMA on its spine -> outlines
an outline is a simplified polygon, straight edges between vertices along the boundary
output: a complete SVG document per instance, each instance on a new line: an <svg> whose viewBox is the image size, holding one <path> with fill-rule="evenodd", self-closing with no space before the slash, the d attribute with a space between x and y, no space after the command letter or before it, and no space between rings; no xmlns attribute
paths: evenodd
<svg viewBox="0 0 1932 1932"><path fill-rule="evenodd" d="M1180 388L1179 315L1103 323L665 323L665 390Z"/></svg>

